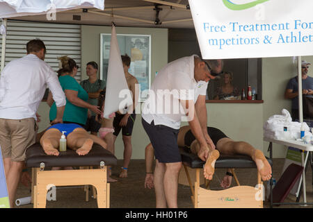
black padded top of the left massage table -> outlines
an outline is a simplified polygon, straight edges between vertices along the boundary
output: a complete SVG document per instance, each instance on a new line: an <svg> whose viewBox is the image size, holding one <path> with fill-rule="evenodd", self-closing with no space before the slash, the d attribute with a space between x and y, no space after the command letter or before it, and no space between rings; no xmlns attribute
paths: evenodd
<svg viewBox="0 0 313 222"><path fill-rule="evenodd" d="M102 148L99 144L93 144L93 148L87 155L78 155L76 151L67 148L60 155L47 155L40 144L33 144L26 150L26 167L91 167L100 166L100 162L106 166L114 166L118 160L110 151Z"/></svg>

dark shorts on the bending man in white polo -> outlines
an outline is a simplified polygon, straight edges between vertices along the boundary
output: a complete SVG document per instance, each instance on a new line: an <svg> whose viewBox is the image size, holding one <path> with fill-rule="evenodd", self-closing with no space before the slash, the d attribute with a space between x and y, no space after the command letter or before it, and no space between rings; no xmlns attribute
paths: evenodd
<svg viewBox="0 0 313 222"><path fill-rule="evenodd" d="M179 130L163 125L155 126L154 121L149 124L144 119L142 119L142 123L154 148L155 158L159 162L182 162L182 157L180 156L177 145L177 135Z"/></svg>

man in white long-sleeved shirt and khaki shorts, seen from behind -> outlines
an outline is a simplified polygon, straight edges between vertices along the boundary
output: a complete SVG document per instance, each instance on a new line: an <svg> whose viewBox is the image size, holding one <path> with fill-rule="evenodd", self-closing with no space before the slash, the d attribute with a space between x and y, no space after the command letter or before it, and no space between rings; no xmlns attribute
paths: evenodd
<svg viewBox="0 0 313 222"><path fill-rule="evenodd" d="M10 206L13 207L26 148L35 143L37 110L48 86L57 106L53 123L62 123L65 94L56 73L45 60L41 40L26 44L27 56L4 67L0 77L0 146L3 155Z"/></svg>

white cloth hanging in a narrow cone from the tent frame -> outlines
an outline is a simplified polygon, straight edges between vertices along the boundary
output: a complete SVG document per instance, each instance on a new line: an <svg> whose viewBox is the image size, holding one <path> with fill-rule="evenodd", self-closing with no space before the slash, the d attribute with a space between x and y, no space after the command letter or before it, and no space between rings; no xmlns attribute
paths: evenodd
<svg viewBox="0 0 313 222"><path fill-rule="evenodd" d="M125 73L118 46L115 26L112 27L111 47L108 66L108 77L106 79L106 98L104 104L104 118L109 119L113 112L124 113L133 104L131 92L128 88Z"/></svg>

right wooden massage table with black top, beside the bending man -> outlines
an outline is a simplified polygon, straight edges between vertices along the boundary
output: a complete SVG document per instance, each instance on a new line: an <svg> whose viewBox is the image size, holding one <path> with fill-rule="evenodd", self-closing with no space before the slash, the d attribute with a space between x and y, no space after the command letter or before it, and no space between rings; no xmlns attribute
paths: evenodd
<svg viewBox="0 0 313 222"><path fill-rule="evenodd" d="M191 153L189 148L179 147L182 163L188 184L191 188L191 200L195 208L262 208L264 200L264 186L261 176L257 173L255 187L243 186L234 173L234 168L257 168L255 162L247 155L220 155L216 160L215 168L230 168L234 174L237 186L223 190L209 190L200 187L200 170L205 162ZM266 158L272 166L272 161ZM195 182L191 180L190 171L195 172ZM182 175L180 173L179 177Z"/></svg>

